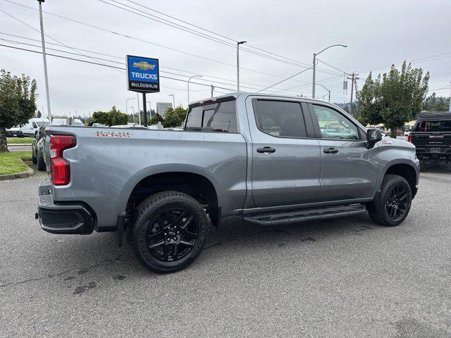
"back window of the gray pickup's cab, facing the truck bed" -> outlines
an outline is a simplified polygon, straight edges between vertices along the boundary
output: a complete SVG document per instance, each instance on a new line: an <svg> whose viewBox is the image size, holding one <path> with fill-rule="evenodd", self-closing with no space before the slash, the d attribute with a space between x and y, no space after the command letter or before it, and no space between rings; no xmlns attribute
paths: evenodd
<svg viewBox="0 0 451 338"><path fill-rule="evenodd" d="M188 111L185 130L197 132L237 132L236 102L195 106Z"/></svg>

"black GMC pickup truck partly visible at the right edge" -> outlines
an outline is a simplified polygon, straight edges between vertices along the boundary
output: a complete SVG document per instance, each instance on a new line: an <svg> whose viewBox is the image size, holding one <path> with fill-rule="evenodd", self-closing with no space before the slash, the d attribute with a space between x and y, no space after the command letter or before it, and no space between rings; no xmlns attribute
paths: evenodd
<svg viewBox="0 0 451 338"><path fill-rule="evenodd" d="M416 156L427 163L451 161L451 113L421 111L407 137L416 146Z"/></svg>

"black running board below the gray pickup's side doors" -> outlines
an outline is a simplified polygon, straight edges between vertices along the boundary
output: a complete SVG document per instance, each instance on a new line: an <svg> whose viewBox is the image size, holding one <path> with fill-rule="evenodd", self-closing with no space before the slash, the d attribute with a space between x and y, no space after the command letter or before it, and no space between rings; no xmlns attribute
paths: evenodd
<svg viewBox="0 0 451 338"><path fill-rule="evenodd" d="M244 215L244 220L258 225L280 225L299 223L306 220L325 220L340 216L364 213L364 204L350 204L343 206L328 206L323 208L297 209L278 213L261 213Z"/></svg>

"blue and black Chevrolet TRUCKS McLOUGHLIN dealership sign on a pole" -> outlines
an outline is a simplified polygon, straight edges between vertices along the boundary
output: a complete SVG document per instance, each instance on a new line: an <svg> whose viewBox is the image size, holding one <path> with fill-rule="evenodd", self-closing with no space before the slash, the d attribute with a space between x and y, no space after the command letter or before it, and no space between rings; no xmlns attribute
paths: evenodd
<svg viewBox="0 0 451 338"><path fill-rule="evenodd" d="M160 69L158 58L127 56L128 90L141 93L160 91Z"/></svg>

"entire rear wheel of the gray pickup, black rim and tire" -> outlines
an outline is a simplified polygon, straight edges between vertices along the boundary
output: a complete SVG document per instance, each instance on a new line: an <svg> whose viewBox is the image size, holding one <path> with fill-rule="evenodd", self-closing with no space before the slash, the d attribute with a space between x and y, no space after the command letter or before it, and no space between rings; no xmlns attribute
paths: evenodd
<svg viewBox="0 0 451 338"><path fill-rule="evenodd" d="M196 260L210 223L198 201L181 192L159 192L137 207L128 242L156 273L173 273Z"/></svg>

